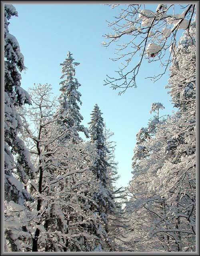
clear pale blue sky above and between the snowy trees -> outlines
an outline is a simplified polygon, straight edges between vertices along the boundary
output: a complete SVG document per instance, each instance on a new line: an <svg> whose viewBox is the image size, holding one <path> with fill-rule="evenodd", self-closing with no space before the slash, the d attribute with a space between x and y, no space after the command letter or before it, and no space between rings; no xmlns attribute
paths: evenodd
<svg viewBox="0 0 200 256"><path fill-rule="evenodd" d="M103 112L106 126L114 132L116 141L116 161L121 176L118 186L126 186L131 179L133 149L136 133L145 127L151 117L152 102L165 106L163 114L170 114L173 107L164 86L168 73L153 83L144 77L158 73L158 64L144 65L138 75L138 88L128 89L118 96L118 91L103 86L106 74L112 75L119 63L109 60L114 56L114 45L103 47L102 35L111 30L106 20L113 20L118 9L102 4L14 4L18 17L10 20L10 33L13 34L24 54L28 68L22 73L22 87L28 89L33 83L50 83L55 95L60 95L59 82L61 66L68 50L76 62L76 78L82 85L83 124L90 121L90 113L95 103ZM155 6L155 5L154 5ZM152 10L154 8L152 7Z"/></svg>

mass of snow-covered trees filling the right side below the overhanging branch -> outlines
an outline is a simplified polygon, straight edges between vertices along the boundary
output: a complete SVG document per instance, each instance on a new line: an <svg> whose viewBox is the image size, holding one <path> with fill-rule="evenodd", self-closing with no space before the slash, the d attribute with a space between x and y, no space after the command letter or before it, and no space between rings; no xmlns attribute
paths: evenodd
<svg viewBox="0 0 200 256"><path fill-rule="evenodd" d="M133 251L196 250L196 43L195 22L174 48L170 78L173 115L161 103L136 136L127 187L126 230Z"/></svg>

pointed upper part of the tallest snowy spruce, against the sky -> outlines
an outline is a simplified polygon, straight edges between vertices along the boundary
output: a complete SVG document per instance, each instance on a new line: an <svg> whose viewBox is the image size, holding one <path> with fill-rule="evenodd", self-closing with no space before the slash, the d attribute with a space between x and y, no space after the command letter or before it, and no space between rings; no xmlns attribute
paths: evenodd
<svg viewBox="0 0 200 256"><path fill-rule="evenodd" d="M66 59L60 65L62 66L62 76L60 79L64 79L60 82L61 95L58 98L60 106L56 111L56 116L59 117L58 127L62 133L65 129L70 129L65 134L63 139L69 139L73 137L74 141L80 140L78 132L83 132L88 138L88 129L81 125L83 120L79 110L78 104L82 105L80 100L81 93L78 91L80 83L75 78L75 67L80 63L74 62L72 53L68 52Z"/></svg>

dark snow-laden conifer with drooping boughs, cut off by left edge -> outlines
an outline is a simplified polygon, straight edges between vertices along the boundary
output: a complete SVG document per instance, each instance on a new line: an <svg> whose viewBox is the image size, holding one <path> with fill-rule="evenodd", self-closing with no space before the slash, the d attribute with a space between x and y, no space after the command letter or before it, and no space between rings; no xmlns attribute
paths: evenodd
<svg viewBox="0 0 200 256"><path fill-rule="evenodd" d="M8 25L18 12L11 4L4 6L4 198L5 234L11 251L20 251L19 237L26 236L26 200L33 200L26 185L34 177L34 168L24 142L18 137L22 122L16 107L30 103L28 93L20 87L20 72L25 70L24 56ZM24 221L22 215L24 214ZM23 222L23 224L22 224ZM6 240L5 240L6 241ZM8 249L8 248L7 248Z"/></svg>

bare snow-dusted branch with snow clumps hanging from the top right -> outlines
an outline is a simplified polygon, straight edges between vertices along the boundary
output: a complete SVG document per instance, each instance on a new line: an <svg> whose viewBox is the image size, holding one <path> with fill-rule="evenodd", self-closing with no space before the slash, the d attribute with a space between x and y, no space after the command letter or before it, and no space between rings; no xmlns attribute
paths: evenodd
<svg viewBox="0 0 200 256"><path fill-rule="evenodd" d="M113 8L119 6L112 5ZM164 67L163 73L151 77L154 81L164 75L172 61L178 30L189 31L192 18L195 16L195 4L180 6L182 13L176 14L178 6L180 5L158 4L153 11L147 10L145 5L127 4L113 22L108 22L114 33L106 34L105 38L109 41L102 42L102 45L107 47L119 42L116 44L118 48L115 52L118 57L111 59L121 60L122 67L116 71L118 77L107 75L104 85L120 89L119 95L128 88L137 87L136 77L144 59L148 62L158 61ZM123 39L124 41L120 42ZM170 50L169 54L168 50ZM133 60L136 64L133 64Z"/></svg>

